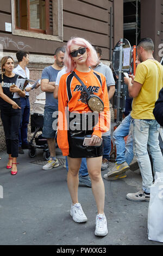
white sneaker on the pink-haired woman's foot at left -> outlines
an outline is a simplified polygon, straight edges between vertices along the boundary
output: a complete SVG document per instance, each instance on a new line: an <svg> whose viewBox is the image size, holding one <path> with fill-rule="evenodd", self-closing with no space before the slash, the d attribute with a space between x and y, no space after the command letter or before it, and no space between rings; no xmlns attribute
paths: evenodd
<svg viewBox="0 0 163 256"><path fill-rule="evenodd" d="M75 222L82 223L87 221L87 217L79 203L71 205L70 215Z"/></svg>

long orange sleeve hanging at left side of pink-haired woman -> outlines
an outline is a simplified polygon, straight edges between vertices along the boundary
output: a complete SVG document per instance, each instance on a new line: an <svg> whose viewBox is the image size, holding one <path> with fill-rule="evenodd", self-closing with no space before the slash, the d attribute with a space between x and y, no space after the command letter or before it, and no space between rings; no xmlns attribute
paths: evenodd
<svg viewBox="0 0 163 256"><path fill-rule="evenodd" d="M58 147L62 151L63 156L68 156L69 145L67 135L67 92L66 92L66 79L65 76L60 78L59 90L58 90L58 130L57 130L57 143Z"/></svg>

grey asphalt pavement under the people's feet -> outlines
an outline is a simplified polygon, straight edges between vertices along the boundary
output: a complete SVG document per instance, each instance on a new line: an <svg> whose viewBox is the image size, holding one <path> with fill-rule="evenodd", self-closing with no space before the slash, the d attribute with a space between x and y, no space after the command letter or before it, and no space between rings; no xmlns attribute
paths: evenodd
<svg viewBox="0 0 163 256"><path fill-rule="evenodd" d="M15 176L6 169L7 154L1 152L0 245L161 245L147 237L148 202L131 202L127 193L141 188L140 170L128 170L127 178L105 185L105 215L108 235L96 237L95 199L89 187L79 186L79 202L88 218L75 223L70 216L71 198L67 188L67 171L58 151L60 166L43 170L42 151L29 158L28 150L17 159ZM110 162L109 168L114 166ZM102 171L102 176L107 170Z"/></svg>

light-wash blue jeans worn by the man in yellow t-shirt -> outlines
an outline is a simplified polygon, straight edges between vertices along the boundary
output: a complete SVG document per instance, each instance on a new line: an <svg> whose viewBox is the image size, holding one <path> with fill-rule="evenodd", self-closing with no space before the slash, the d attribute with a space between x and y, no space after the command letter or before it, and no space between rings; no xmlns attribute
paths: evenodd
<svg viewBox="0 0 163 256"><path fill-rule="evenodd" d="M131 120L134 155L142 176L142 189L150 193L153 184L152 167L149 159L151 153L155 172L163 172L163 156L159 146L159 124L156 120Z"/></svg>

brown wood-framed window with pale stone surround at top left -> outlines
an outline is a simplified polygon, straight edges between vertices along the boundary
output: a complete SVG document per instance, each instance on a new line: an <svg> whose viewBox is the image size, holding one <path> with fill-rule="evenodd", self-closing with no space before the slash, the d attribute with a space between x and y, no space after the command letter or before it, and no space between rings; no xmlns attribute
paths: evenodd
<svg viewBox="0 0 163 256"><path fill-rule="evenodd" d="M63 40L62 0L11 0L12 34Z"/></svg>

